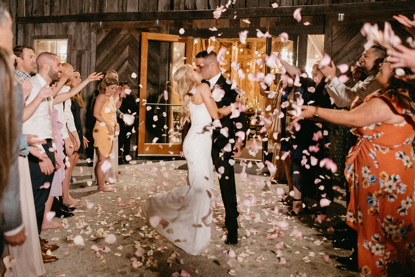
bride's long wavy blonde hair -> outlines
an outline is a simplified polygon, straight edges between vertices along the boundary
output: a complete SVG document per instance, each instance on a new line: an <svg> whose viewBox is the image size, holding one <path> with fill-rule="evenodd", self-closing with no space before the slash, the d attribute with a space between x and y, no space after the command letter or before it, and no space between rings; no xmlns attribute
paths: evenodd
<svg viewBox="0 0 415 277"><path fill-rule="evenodd" d="M189 75L192 70L193 66L185 64L180 66L173 75L173 80L177 84L176 90L182 103L180 127L183 127L186 122L190 122L190 91L197 84L197 81Z"/></svg>

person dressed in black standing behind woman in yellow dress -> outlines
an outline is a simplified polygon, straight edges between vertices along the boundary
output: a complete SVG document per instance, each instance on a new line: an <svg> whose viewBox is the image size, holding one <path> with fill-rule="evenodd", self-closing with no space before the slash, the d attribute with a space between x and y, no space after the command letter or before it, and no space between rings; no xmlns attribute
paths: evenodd
<svg viewBox="0 0 415 277"><path fill-rule="evenodd" d="M129 89L127 82L120 83L120 86L122 86L124 89ZM120 111L123 114L136 113L135 117L137 118L138 105L134 99L134 96L127 93L125 94L124 100L122 100L122 104L120 106ZM123 120L118 120L118 123L120 124L120 135L118 135L118 164L122 162L128 163L125 157L129 155L130 152L131 134L134 124L127 125Z"/></svg>

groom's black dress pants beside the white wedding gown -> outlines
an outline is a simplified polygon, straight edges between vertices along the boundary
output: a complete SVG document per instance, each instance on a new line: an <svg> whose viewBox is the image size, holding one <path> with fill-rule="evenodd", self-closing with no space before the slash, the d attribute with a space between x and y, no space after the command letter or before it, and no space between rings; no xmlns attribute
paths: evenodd
<svg viewBox="0 0 415 277"><path fill-rule="evenodd" d="M215 132L215 130L214 130ZM237 217L239 212L237 211L237 201L236 201L236 185L235 185L235 172L233 165L229 164L229 159L232 159L232 152L225 152L222 157L222 148L225 147L227 140L220 140L217 138L212 144L212 161L215 165L216 171L220 167L223 167L225 170L222 174L222 177L219 179L220 193L222 194L222 201L225 206L225 227L229 230L236 230L238 228ZM225 143L226 142L226 143ZM233 145L232 145L233 147Z"/></svg>

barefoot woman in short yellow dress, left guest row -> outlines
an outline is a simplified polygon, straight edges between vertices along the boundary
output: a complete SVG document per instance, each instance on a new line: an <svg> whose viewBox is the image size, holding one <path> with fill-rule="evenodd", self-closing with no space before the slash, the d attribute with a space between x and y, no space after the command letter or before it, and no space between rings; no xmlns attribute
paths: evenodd
<svg viewBox="0 0 415 277"><path fill-rule="evenodd" d="M97 119L93 130L94 147L98 153L98 162L95 167L95 177L98 180L98 191L115 191L114 188L105 185L105 174L109 170L110 153L120 127L115 121L115 112L120 108L125 91L120 89L118 81L112 76L105 78L98 86L100 94L97 96L94 106L94 116ZM114 98L119 96L117 104ZM107 161L107 163L105 163Z"/></svg>

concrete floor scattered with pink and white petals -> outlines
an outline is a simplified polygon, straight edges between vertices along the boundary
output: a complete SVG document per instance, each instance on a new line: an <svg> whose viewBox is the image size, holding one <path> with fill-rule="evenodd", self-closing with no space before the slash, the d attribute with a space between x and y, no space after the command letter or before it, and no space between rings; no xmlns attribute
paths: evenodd
<svg viewBox="0 0 415 277"><path fill-rule="evenodd" d="M316 223L315 216L288 218L284 213L287 208L278 205L281 196L276 192L277 188L287 190L286 185L267 186L265 182L269 178L260 175L251 175L251 182L242 181L236 174L237 194L243 207L239 216L241 240L229 246L224 243L224 208L215 178L218 205L213 214L211 242L205 253L192 256L157 235L140 213L140 203L147 199L151 187L157 186L160 193L185 183L186 170L176 168L186 161L137 162L140 164L119 166L120 181L113 185L117 189L114 193L98 193L96 186L88 186L92 167L85 161L78 163L73 173L76 181L71 185L71 195L81 199L78 213L68 219L55 218L54 221L64 223L64 228L46 230L41 235L61 246L53 252L59 260L45 265L45 277L169 277L178 276L175 272L181 270L192 277L358 276L356 272L336 267L334 258L347 256L350 251L335 250L331 244L332 233L327 230L340 221L339 215L345 212L344 201L336 199L329 207L331 221ZM168 177L160 174L162 169ZM337 196L343 193L340 191ZM252 203L250 207L243 205L245 199ZM284 234L272 238L276 230ZM98 231L114 234L115 243L95 239ZM85 240L85 246L73 245L77 235ZM91 250L93 245L104 251L97 254ZM137 247L145 250L142 258L137 257L143 265L133 267L130 258L134 257ZM187 275L181 272L180 276Z"/></svg>

